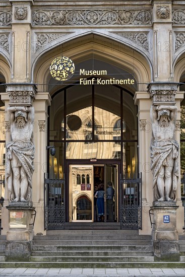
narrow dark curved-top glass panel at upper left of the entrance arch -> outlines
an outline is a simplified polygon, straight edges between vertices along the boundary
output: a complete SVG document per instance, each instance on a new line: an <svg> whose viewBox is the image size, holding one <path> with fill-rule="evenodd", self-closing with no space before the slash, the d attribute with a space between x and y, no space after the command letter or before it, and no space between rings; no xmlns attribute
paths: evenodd
<svg viewBox="0 0 185 277"><path fill-rule="evenodd" d="M49 129L50 140L64 140L64 91L51 101Z"/></svg>

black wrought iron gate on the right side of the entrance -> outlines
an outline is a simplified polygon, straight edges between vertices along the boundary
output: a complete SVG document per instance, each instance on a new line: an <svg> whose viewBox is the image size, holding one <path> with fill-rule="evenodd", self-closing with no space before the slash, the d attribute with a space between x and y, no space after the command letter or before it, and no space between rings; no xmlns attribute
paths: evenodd
<svg viewBox="0 0 185 277"><path fill-rule="evenodd" d="M142 229L142 179L120 179L120 228Z"/></svg>

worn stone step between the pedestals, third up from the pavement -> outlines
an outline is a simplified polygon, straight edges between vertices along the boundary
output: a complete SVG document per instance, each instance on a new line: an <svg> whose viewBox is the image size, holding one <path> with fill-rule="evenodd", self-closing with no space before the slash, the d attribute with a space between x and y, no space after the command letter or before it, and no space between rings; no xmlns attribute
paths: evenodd
<svg viewBox="0 0 185 277"><path fill-rule="evenodd" d="M102 251L102 250L94 250L94 251L32 251L32 256L60 256L60 257L67 257L67 256L106 256L106 257L125 257L125 256L153 256L153 251Z"/></svg>

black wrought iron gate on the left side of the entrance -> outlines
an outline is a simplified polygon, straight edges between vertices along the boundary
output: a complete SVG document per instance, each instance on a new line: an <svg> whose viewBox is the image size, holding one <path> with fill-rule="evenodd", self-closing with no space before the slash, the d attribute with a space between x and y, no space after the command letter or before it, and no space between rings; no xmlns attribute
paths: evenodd
<svg viewBox="0 0 185 277"><path fill-rule="evenodd" d="M65 227L65 180L44 180L44 227L45 230Z"/></svg>

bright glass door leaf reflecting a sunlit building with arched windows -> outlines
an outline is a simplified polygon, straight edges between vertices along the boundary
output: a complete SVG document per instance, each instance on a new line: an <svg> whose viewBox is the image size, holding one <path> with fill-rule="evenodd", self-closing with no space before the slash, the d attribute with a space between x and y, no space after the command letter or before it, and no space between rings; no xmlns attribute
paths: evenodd
<svg viewBox="0 0 185 277"><path fill-rule="evenodd" d="M70 222L93 221L93 166L70 165Z"/></svg>

